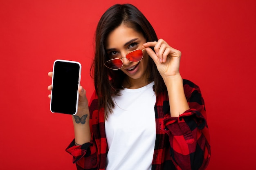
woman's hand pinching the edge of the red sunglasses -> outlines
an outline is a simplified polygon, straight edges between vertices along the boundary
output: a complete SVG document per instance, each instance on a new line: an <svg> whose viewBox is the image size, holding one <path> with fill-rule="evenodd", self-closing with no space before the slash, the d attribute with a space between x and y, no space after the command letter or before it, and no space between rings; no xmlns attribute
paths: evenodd
<svg viewBox="0 0 256 170"><path fill-rule="evenodd" d="M180 76L181 52L173 49L163 39L143 44L146 52L155 62L163 79ZM149 47L154 47L155 52Z"/></svg>

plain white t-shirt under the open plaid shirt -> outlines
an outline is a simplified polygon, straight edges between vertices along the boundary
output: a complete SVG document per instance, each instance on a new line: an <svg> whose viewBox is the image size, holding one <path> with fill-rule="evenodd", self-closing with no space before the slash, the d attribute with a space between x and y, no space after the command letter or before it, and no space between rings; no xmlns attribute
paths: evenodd
<svg viewBox="0 0 256 170"><path fill-rule="evenodd" d="M108 141L106 170L151 170L155 147L154 82L124 88L105 121Z"/></svg>

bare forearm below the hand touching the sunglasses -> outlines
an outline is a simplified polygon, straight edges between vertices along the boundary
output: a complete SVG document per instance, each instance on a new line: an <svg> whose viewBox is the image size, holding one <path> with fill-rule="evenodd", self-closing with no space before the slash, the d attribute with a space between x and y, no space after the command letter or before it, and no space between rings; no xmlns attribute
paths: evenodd
<svg viewBox="0 0 256 170"><path fill-rule="evenodd" d="M189 109L189 104L184 94L182 77L180 75L165 77L164 82L168 91L171 117L179 117Z"/></svg>

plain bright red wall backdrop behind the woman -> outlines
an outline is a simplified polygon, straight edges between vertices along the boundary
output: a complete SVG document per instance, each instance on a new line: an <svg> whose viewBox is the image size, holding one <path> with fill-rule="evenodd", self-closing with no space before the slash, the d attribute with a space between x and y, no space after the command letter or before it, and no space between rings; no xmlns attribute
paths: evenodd
<svg viewBox="0 0 256 170"><path fill-rule="evenodd" d="M255 0L1 0L0 169L76 169L65 152L74 137L71 116L50 112L47 73L56 59L81 62L90 97L97 22L111 5L127 2L182 51L183 78L202 90L207 170L256 169Z"/></svg>

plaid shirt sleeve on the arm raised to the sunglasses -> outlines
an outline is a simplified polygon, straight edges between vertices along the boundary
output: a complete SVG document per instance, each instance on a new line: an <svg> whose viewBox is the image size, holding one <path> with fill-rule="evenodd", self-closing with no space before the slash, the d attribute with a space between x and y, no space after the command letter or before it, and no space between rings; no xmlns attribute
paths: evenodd
<svg viewBox="0 0 256 170"><path fill-rule="evenodd" d="M200 88L184 80L189 110L179 117L166 114L162 129L169 136L170 154L177 169L204 170L210 160L210 138Z"/></svg>

